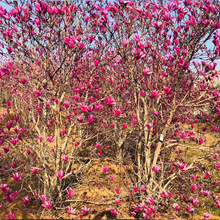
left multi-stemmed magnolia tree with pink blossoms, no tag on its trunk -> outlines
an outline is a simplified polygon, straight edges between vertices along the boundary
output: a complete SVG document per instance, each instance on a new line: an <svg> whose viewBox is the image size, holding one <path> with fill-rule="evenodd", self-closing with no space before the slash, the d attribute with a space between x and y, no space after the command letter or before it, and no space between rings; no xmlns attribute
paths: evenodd
<svg viewBox="0 0 220 220"><path fill-rule="evenodd" d="M99 101L103 98L94 87L98 61L93 54L96 46L89 47L95 38L90 36L89 20L84 20L86 6L27 2L14 7L7 13L1 8L5 18L2 45L16 59L2 69L2 76L9 75L4 86L11 90L13 107L22 123L34 132L35 138L25 141L27 150L43 165L40 192L52 194L61 184L58 179L72 174L76 147L97 136L95 132L87 135L94 120L100 121L93 111L102 109ZM17 20L20 26L12 29ZM97 58L101 53L104 50ZM68 147L70 141L74 147ZM38 173L37 168L33 173Z"/></svg>

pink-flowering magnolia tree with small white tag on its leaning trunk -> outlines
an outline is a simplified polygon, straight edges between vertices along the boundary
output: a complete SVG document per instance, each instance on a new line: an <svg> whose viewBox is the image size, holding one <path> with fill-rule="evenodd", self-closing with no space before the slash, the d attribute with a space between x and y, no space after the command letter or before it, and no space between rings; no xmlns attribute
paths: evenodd
<svg viewBox="0 0 220 220"><path fill-rule="evenodd" d="M159 3L120 2L117 6L111 10L117 11L112 19L118 23L107 25L107 29L118 54L121 78L128 84L122 89L131 94L139 182L149 183L151 188L157 184L152 167L162 151L179 145L179 138L195 135L175 131L177 122L192 122L193 112L218 96L210 86L218 76L219 10L215 2L206 1L169 2L163 7ZM213 36L212 50L206 42ZM116 75L120 76L119 72ZM204 139L199 141L202 144Z"/></svg>

